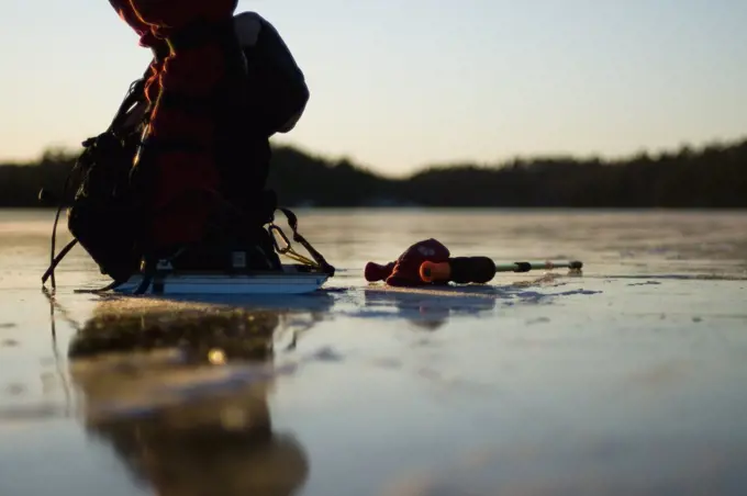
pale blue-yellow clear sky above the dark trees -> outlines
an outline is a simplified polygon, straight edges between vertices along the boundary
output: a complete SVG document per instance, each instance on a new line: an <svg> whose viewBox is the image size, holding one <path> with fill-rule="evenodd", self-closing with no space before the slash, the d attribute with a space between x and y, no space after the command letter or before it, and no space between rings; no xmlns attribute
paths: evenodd
<svg viewBox="0 0 747 496"><path fill-rule="evenodd" d="M0 0L0 159L102 131L150 54L107 0ZM277 138L401 174L747 137L746 0L241 0L311 101Z"/></svg>

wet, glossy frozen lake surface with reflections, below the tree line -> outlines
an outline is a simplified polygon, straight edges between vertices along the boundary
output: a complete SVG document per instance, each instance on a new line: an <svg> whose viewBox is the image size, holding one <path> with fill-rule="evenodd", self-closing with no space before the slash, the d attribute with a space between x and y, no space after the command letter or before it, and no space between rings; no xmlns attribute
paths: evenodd
<svg viewBox="0 0 747 496"><path fill-rule="evenodd" d="M0 495L747 491L747 214L299 214L320 294L74 294L75 250L53 305L51 215L0 213ZM586 269L364 282L431 236Z"/></svg>

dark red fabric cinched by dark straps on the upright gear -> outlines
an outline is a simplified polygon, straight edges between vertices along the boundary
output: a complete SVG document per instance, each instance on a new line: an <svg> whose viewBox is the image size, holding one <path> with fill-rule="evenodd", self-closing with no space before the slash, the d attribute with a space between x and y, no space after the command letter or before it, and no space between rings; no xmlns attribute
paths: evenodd
<svg viewBox="0 0 747 496"><path fill-rule="evenodd" d="M166 40L196 21L227 21L237 0L109 0L119 15L140 35L140 43L164 56L149 67L146 94L155 103L148 137L155 140L190 143L202 151L165 153L157 164L154 207L168 208L153 219L158 245L189 243L201 238L209 206L188 200L194 191L216 191L220 183L214 159L215 122L172 105L164 106L164 91L201 98L211 94L225 75L225 61L218 44L204 43L178 53L169 52ZM166 55L168 54L168 55ZM175 207L176 206L176 207Z"/></svg>

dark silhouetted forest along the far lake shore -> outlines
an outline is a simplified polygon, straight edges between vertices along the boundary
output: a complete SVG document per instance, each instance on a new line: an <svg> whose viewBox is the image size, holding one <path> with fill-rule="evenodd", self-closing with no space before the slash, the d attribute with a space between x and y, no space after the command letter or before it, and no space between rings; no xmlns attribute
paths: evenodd
<svg viewBox="0 0 747 496"><path fill-rule="evenodd" d="M48 150L32 164L0 165L0 206L40 206L60 192L76 154ZM516 158L451 165L404 179L349 160L276 147L269 188L288 206L747 207L747 139L626 159Z"/></svg>

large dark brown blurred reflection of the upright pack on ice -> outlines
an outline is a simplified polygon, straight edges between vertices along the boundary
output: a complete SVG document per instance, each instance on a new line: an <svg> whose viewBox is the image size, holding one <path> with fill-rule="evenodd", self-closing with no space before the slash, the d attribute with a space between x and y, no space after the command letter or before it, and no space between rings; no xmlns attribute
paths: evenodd
<svg viewBox="0 0 747 496"><path fill-rule="evenodd" d="M289 495L305 451L272 428L274 346L292 312L104 301L68 354L86 430L160 495ZM305 313L306 315L309 313Z"/></svg>

